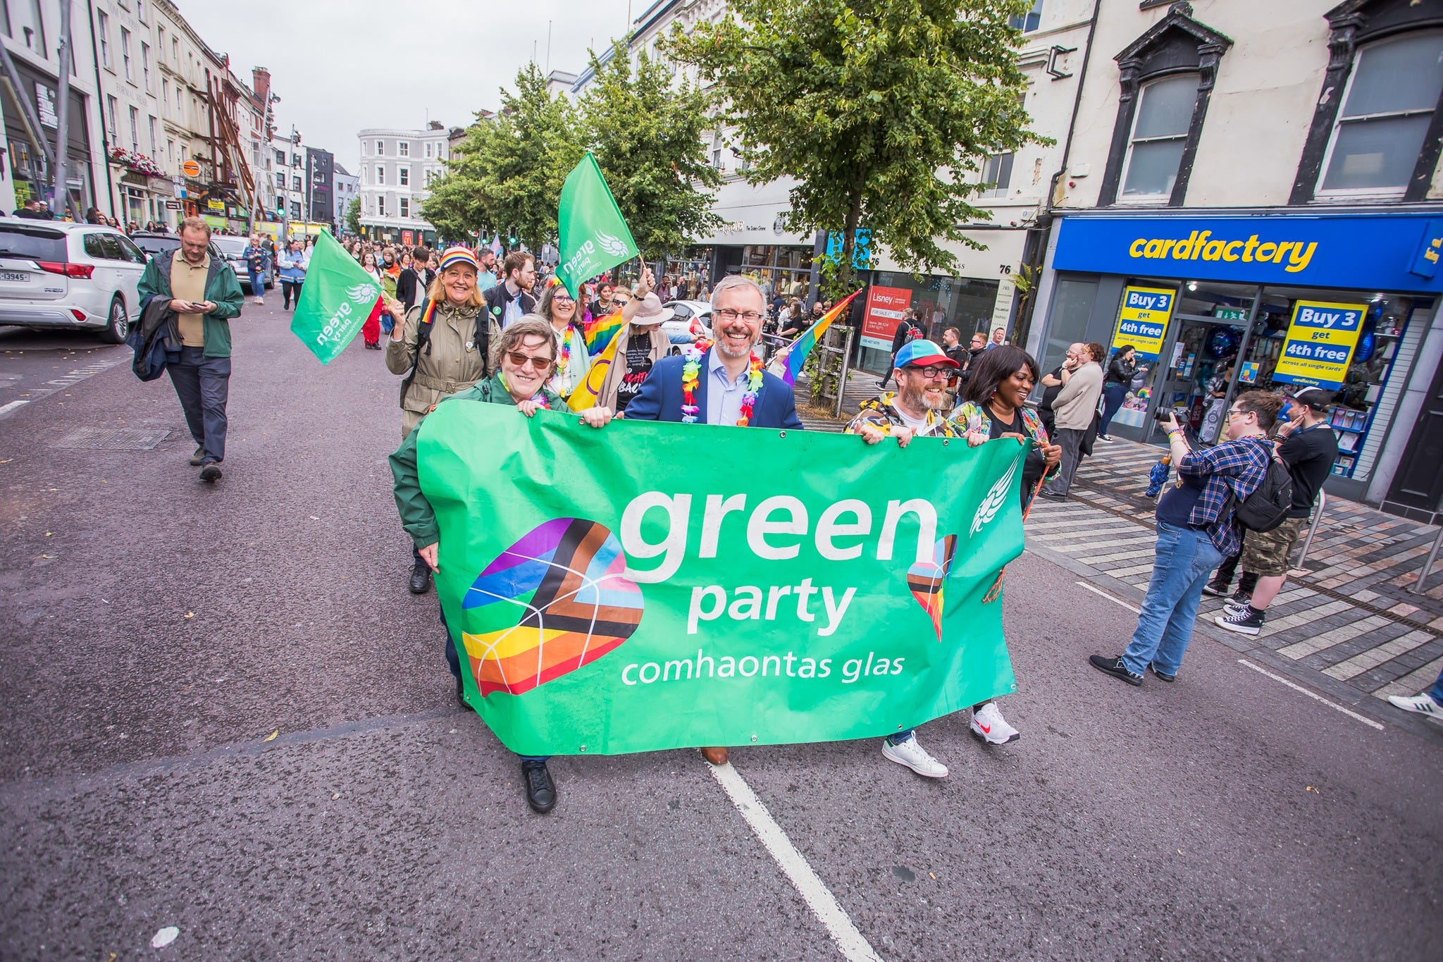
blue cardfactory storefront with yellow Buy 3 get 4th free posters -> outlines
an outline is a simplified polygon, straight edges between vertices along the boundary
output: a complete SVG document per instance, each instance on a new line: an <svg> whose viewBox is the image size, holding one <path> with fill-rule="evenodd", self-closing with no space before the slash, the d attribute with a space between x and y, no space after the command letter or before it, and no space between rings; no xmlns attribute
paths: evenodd
<svg viewBox="0 0 1443 962"><path fill-rule="evenodd" d="M1160 441L1160 407L1212 441L1241 391L1335 391L1328 490L1382 503L1407 495L1400 463L1426 441L1413 427L1443 350L1440 257L1443 209L1069 215L1029 349L1051 371L1075 340L1133 346L1146 371L1111 433L1141 441Z"/></svg>

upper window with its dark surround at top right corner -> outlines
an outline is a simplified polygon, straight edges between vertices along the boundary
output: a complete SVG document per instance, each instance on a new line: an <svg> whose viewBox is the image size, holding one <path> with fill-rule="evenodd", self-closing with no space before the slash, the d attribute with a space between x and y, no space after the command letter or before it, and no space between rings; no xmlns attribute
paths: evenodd
<svg viewBox="0 0 1443 962"><path fill-rule="evenodd" d="M1330 52L1289 203L1423 200L1443 137L1443 17L1416 0L1325 14Z"/></svg>

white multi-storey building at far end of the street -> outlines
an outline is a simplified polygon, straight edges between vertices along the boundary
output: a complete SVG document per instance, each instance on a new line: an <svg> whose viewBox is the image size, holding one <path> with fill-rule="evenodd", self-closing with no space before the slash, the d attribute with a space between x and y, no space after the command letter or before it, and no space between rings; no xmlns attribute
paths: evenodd
<svg viewBox="0 0 1443 962"><path fill-rule="evenodd" d="M436 244L421 219L430 183L444 173L452 131L431 121L424 130L371 128L361 138L361 229L398 244Z"/></svg>

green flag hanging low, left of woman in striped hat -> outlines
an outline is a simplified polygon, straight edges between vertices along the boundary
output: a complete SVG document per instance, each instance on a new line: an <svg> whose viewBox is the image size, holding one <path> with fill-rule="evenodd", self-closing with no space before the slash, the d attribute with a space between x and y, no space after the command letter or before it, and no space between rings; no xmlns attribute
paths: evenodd
<svg viewBox="0 0 1443 962"><path fill-rule="evenodd" d="M329 234L316 235L306 283L296 301L290 332L330 363L368 317L381 313L381 288Z"/></svg>

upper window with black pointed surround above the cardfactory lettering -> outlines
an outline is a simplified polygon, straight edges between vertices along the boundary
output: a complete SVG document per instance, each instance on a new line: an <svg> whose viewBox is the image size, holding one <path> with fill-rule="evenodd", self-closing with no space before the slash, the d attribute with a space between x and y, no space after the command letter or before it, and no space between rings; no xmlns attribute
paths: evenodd
<svg viewBox="0 0 1443 962"><path fill-rule="evenodd" d="M1182 206L1218 62L1232 40L1179 3L1114 59L1121 92L1098 205Z"/></svg>

